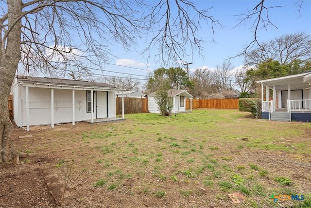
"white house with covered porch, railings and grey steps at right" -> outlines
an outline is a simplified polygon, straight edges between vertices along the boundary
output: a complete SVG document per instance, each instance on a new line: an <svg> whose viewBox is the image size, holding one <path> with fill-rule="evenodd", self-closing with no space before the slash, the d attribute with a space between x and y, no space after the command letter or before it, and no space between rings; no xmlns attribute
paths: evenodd
<svg viewBox="0 0 311 208"><path fill-rule="evenodd" d="M257 83L261 85L261 118L311 121L311 71Z"/></svg>

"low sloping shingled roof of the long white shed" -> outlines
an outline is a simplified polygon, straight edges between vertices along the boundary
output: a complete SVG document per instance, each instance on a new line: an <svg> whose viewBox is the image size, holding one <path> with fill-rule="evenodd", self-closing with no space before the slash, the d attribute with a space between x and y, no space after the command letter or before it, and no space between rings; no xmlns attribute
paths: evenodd
<svg viewBox="0 0 311 208"><path fill-rule="evenodd" d="M69 85L81 87L104 87L116 88L112 85L100 82L89 82L71 79L49 78L49 77L36 77L36 76L17 76L17 82L25 83L40 83L40 84L56 84L56 85Z"/></svg>

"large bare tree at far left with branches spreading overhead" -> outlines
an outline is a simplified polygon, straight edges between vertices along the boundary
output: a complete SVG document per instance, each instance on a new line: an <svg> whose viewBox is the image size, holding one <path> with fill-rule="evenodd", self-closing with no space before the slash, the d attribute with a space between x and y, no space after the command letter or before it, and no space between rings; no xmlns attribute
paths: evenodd
<svg viewBox="0 0 311 208"><path fill-rule="evenodd" d="M68 64L88 60L100 66L112 56L111 44L131 50L142 37L150 38L148 57L156 47L159 61L176 63L194 51L200 54L201 21L212 31L217 23L189 0L2 0L0 9L0 162L15 154L7 106L18 65L65 76Z"/></svg>

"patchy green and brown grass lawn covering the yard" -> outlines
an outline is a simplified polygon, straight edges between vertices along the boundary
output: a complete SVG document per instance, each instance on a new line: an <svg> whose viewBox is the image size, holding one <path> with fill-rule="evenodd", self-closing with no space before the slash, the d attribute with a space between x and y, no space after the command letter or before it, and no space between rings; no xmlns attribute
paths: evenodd
<svg viewBox="0 0 311 208"><path fill-rule="evenodd" d="M16 129L13 143L29 156L21 166L6 170L29 171L38 181L53 173L69 178L71 196L63 207L280 206L269 199L271 194L304 195L303 201L278 203L311 206L310 123L212 109L171 117L127 114L125 119L31 127L31 132ZM25 134L33 136L18 139ZM9 172L0 173L0 180L5 174ZM36 190L29 195L44 198ZM240 204L227 196L236 191L245 198ZM10 198L6 200L3 206L10 207ZM46 203L54 205L52 200Z"/></svg>

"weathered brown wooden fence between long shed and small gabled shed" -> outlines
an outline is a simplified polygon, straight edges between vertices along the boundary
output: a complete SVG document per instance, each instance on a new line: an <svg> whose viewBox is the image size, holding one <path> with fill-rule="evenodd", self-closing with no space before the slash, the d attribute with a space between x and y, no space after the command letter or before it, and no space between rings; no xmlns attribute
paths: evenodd
<svg viewBox="0 0 311 208"><path fill-rule="evenodd" d="M124 97L124 113L148 113L148 98ZM116 114L122 114L122 97L116 98Z"/></svg>

